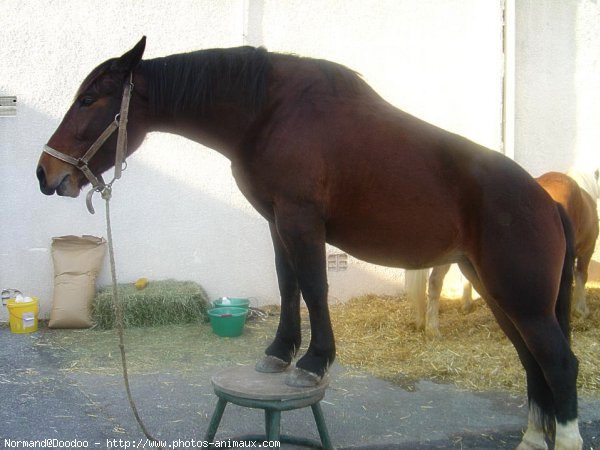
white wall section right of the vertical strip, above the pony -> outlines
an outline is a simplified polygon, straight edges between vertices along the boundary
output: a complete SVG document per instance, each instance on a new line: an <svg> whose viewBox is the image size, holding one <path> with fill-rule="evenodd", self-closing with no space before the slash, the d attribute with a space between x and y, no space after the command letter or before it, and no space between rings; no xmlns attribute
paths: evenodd
<svg viewBox="0 0 600 450"><path fill-rule="evenodd" d="M600 5L516 7L515 159L534 176L600 166Z"/></svg>

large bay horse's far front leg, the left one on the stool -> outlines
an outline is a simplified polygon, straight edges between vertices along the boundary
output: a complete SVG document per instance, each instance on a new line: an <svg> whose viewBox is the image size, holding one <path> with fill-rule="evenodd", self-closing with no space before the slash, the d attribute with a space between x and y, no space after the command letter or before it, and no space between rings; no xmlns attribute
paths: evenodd
<svg viewBox="0 0 600 450"><path fill-rule="evenodd" d="M273 249L275 250L275 269L281 295L281 313L275 339L265 350L265 357L256 364L259 372L283 372L292 362L300 348L300 288L292 262L274 223L269 223Z"/></svg>

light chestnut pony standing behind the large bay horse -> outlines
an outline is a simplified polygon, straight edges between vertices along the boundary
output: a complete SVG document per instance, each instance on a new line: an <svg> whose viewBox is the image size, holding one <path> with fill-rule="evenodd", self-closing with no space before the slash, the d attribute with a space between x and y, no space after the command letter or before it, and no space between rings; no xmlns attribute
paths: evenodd
<svg viewBox="0 0 600 450"><path fill-rule="evenodd" d="M583 173L570 171L573 177L587 189L580 187L569 175L559 172L548 172L536 181L548 194L566 210L575 233L575 301L572 313L587 317L589 308L586 302L585 284L588 279L588 268L596 240L598 239L598 212L596 202L599 195L598 171ZM588 193L589 190L589 193ZM435 266L429 275L428 288L427 269L410 271L406 274L406 291L415 309L415 323L417 329L424 329L431 337L439 337L439 303L442 293L444 277L450 270L450 264ZM465 312L473 307L472 285L466 282L463 286L463 306Z"/></svg>

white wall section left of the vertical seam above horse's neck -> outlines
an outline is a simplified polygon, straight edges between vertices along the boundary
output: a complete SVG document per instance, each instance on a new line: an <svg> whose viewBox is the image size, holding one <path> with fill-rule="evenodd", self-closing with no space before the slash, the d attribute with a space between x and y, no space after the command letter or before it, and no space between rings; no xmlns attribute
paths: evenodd
<svg viewBox="0 0 600 450"><path fill-rule="evenodd" d="M17 117L0 120L0 210L6 217L0 286L38 295L42 315L52 295L51 237L106 235L99 198L98 213L90 216L84 197L46 197L36 187L41 146L79 83L144 34L147 57L242 41L241 1L176 4L0 2L0 95L18 97ZM188 182L179 174L192 166ZM151 136L115 186L112 209L121 281L174 277L197 280L213 296L274 293L266 225L237 193L228 162L216 153L180 138ZM105 264L100 283L109 279Z"/></svg>

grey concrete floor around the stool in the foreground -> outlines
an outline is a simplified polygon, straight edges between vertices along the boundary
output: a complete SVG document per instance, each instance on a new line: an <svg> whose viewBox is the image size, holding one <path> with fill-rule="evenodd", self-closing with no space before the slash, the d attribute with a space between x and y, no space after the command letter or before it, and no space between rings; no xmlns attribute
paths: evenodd
<svg viewBox="0 0 600 450"><path fill-rule="evenodd" d="M44 439L51 445L57 445L52 439L78 439L98 449L143 447L122 378L68 370L75 363L40 345L39 333L16 335L0 327L0 448L11 445L6 440ZM200 365L192 376L160 370L131 377L140 415L167 448L193 448L198 442L191 440L203 439L216 404L210 376L225 366ZM527 422L521 395L464 392L428 381L407 389L339 365L322 407L337 448L508 449ZM580 425L584 449L600 449L600 398L580 399ZM263 428L262 411L228 405L216 439ZM284 412L281 428L318 439L310 408Z"/></svg>

